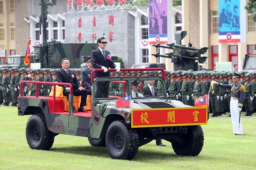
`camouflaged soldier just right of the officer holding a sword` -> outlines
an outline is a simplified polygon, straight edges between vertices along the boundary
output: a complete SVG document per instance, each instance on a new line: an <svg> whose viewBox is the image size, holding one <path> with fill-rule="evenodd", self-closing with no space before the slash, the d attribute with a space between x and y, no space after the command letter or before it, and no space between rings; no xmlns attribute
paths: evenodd
<svg viewBox="0 0 256 170"><path fill-rule="evenodd" d="M244 94L244 107L246 110L246 114L244 116L252 116L253 113L253 97L255 95L255 85L252 81L252 75L250 73L245 74L246 82L245 86L245 94Z"/></svg>

